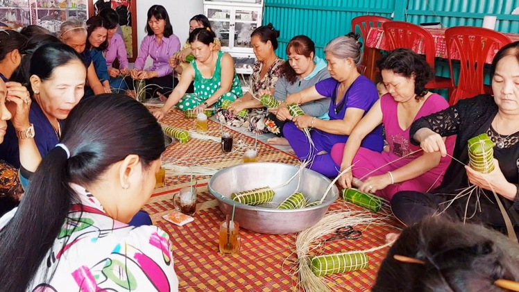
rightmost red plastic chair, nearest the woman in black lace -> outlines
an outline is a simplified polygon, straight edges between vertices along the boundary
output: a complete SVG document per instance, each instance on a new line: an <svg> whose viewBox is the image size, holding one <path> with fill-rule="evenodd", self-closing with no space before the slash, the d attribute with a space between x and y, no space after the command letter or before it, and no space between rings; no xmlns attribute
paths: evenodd
<svg viewBox="0 0 519 292"><path fill-rule="evenodd" d="M454 105L460 99L470 98L486 92L483 83L484 65L489 53L511 43L509 37L488 28L475 26L456 26L445 31L450 76L454 92L449 103ZM459 55L459 81L454 86L452 74L452 54Z"/></svg>

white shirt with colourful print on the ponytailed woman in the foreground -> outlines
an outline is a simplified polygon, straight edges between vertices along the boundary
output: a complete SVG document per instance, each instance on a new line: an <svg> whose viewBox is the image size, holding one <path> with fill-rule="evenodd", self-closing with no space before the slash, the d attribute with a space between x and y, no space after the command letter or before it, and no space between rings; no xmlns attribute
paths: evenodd
<svg viewBox="0 0 519 292"><path fill-rule="evenodd" d="M116 221L83 187L71 187L81 205L71 206L27 291L178 291L166 232ZM15 212L0 218L0 228Z"/></svg>

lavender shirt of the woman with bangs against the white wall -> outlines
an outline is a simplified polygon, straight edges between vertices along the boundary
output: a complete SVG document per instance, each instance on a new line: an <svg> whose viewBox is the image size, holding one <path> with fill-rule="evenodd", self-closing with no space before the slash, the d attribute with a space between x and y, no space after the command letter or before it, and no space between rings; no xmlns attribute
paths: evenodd
<svg viewBox="0 0 519 292"><path fill-rule="evenodd" d="M160 44L158 44L155 35L146 35L144 40L142 40L139 55L137 60L135 60L133 68L137 70L144 69L146 58L149 55L153 59L153 65L146 68L146 71L157 71L159 77L167 76L173 72L173 69L169 67L168 59L178 50L180 50L180 40L178 40L176 35L162 37Z"/></svg>

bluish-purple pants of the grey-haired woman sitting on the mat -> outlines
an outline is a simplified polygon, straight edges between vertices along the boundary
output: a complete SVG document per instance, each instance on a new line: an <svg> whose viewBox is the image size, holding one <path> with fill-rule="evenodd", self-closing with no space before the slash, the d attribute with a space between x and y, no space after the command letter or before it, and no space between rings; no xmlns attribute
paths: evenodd
<svg viewBox="0 0 519 292"><path fill-rule="evenodd" d="M339 174L340 167L332 160L330 152L334 144L346 143L348 136L334 135L314 129L310 131L310 137L314 141L314 148L310 145L305 132L299 130L291 121L284 124L283 134L300 160L313 160L308 165L309 169L317 171L328 178L334 178ZM326 151L326 153L317 155L321 151Z"/></svg>

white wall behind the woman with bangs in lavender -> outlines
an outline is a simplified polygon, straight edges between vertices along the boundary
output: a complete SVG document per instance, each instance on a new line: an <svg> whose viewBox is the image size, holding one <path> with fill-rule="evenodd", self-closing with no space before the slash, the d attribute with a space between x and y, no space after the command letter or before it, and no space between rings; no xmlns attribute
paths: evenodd
<svg viewBox="0 0 519 292"><path fill-rule="evenodd" d="M146 36L144 28L146 28L148 9L152 5L158 4L166 8L173 26L173 33L180 38L182 45L189 37L189 19L194 15L203 14L203 0L139 0L136 3L138 48L140 48L142 39ZM146 64L151 64L149 58Z"/></svg>

